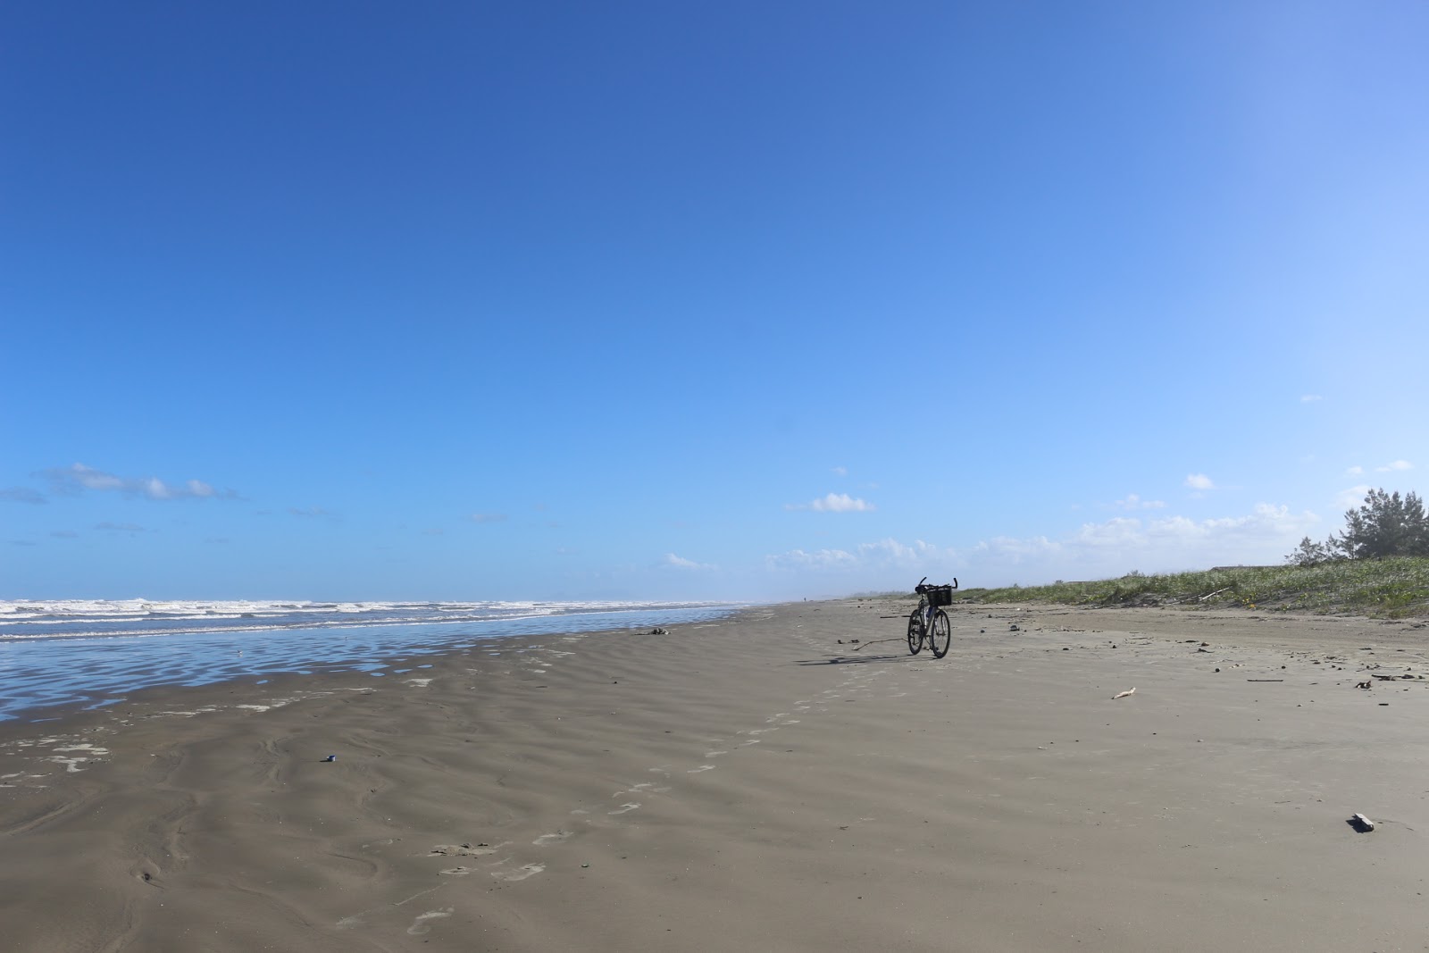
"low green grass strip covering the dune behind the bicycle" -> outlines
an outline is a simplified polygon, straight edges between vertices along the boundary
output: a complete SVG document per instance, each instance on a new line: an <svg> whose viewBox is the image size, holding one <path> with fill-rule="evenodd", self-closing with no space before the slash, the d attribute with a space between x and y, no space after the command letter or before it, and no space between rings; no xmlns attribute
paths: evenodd
<svg viewBox="0 0 1429 953"><path fill-rule="evenodd" d="M967 589L975 603L1049 602L1073 606L1176 606L1263 612L1348 613L1383 619L1429 616L1429 559L1332 560L1312 566L1235 566L1200 573L1090 583Z"/></svg>

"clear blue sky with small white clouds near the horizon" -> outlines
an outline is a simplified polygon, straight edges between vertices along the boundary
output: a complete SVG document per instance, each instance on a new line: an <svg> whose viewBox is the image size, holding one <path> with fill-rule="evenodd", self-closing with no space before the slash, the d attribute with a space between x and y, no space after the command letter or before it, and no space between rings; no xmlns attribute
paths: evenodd
<svg viewBox="0 0 1429 953"><path fill-rule="evenodd" d="M1422 3L0 36L0 597L1037 583L1429 489Z"/></svg>

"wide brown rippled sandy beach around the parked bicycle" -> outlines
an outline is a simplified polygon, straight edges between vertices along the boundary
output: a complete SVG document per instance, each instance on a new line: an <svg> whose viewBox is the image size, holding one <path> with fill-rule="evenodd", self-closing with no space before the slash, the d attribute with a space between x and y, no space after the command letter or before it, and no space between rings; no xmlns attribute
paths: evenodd
<svg viewBox="0 0 1429 953"><path fill-rule="evenodd" d="M6 724L0 946L1426 949L1429 682L1373 676L1429 630L957 606L937 662L906 610Z"/></svg>

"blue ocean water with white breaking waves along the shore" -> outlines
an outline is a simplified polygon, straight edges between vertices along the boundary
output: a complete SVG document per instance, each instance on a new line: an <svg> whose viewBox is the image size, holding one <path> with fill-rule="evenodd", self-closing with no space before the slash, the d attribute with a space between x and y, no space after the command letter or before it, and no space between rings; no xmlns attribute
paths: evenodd
<svg viewBox="0 0 1429 953"><path fill-rule="evenodd" d="M413 656L557 632L707 622L729 603L0 600L0 720L154 686L422 667Z"/></svg>

